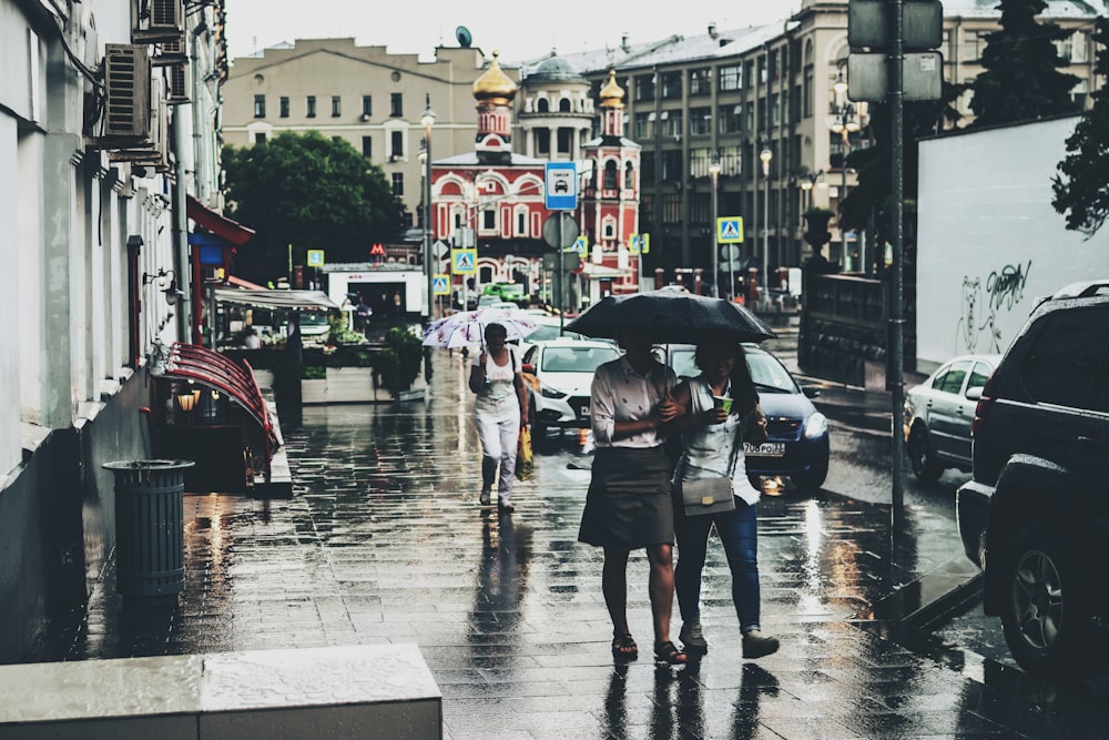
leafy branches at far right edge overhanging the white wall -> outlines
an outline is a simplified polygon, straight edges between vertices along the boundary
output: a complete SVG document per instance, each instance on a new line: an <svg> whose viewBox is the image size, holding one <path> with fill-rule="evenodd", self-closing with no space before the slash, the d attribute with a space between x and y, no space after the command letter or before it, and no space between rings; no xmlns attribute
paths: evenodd
<svg viewBox="0 0 1109 740"><path fill-rule="evenodd" d="M1093 72L1103 80L1109 74L1109 20L1097 20L1093 41L1098 44ZM1067 156L1051 184L1051 205L1066 216L1067 229L1087 237L1109 217L1109 91L1102 87L1091 98L1093 105L1067 139Z"/></svg>

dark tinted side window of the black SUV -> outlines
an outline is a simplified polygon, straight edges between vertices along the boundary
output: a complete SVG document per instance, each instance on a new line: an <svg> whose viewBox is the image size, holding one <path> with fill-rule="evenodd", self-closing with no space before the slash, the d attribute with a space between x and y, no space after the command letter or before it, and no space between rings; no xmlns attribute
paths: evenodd
<svg viewBox="0 0 1109 740"><path fill-rule="evenodd" d="M1041 403L1085 407L1109 349L1109 308L1059 311L1042 328L1020 366L1029 395Z"/></svg>

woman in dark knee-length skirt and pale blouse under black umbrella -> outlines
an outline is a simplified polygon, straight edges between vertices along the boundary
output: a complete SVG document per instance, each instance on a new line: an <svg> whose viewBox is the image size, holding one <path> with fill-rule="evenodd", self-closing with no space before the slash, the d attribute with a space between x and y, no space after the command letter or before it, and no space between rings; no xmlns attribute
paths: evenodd
<svg viewBox="0 0 1109 740"><path fill-rule="evenodd" d="M628 627L628 556L644 548L655 660L681 665L685 653L670 640L674 511L671 465L662 446L663 426L681 412L670 396L675 377L654 358L647 338L625 334L620 346L625 354L593 374L597 452L578 541L604 548L601 591L612 620L612 657L623 661L639 656Z"/></svg>

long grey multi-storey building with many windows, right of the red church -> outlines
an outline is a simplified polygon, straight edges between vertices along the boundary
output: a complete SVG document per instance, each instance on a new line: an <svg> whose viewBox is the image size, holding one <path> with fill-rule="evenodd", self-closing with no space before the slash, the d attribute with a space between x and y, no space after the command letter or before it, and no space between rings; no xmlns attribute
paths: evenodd
<svg viewBox="0 0 1109 740"><path fill-rule="evenodd" d="M1041 16L1075 31L1059 51L1068 62L1062 71L1081 80L1072 91L1081 102L1099 84L1091 32L1105 13L1100 1L1048 0ZM998 18L993 0L944 2L946 81L964 83L980 73L985 37L998 30ZM702 36L645 43L624 36L615 48L563 57L594 90L614 68L629 91L627 134L643 148L640 221L651 234L650 266L708 267L714 215L744 220L737 283L747 268L765 267L774 286L780 267L803 263L810 247L801 214L810 206L837 209L856 182L844 156L868 145L867 105L849 99L847 53L847 0L803 0L797 13L779 23L736 30L709 24ZM523 64L525 84L543 61ZM959 125L973 120L969 100L967 94L959 101ZM861 235L842 234L834 220L831 233L828 256L844 270L865 270L882 259ZM719 256L726 265L732 253L721 249ZM745 287L726 280L722 267L722 291Z"/></svg>

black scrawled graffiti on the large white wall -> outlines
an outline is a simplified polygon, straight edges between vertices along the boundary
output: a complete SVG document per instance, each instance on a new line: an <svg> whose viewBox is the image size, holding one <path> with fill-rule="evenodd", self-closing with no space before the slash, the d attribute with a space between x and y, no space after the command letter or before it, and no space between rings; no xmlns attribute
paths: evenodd
<svg viewBox="0 0 1109 740"><path fill-rule="evenodd" d="M1032 261L1005 265L981 277L963 276L963 313L955 330L955 354L998 354L1005 346L998 312L1010 312L1025 297ZM985 283L985 285L984 285ZM985 303L984 303L985 300Z"/></svg>

